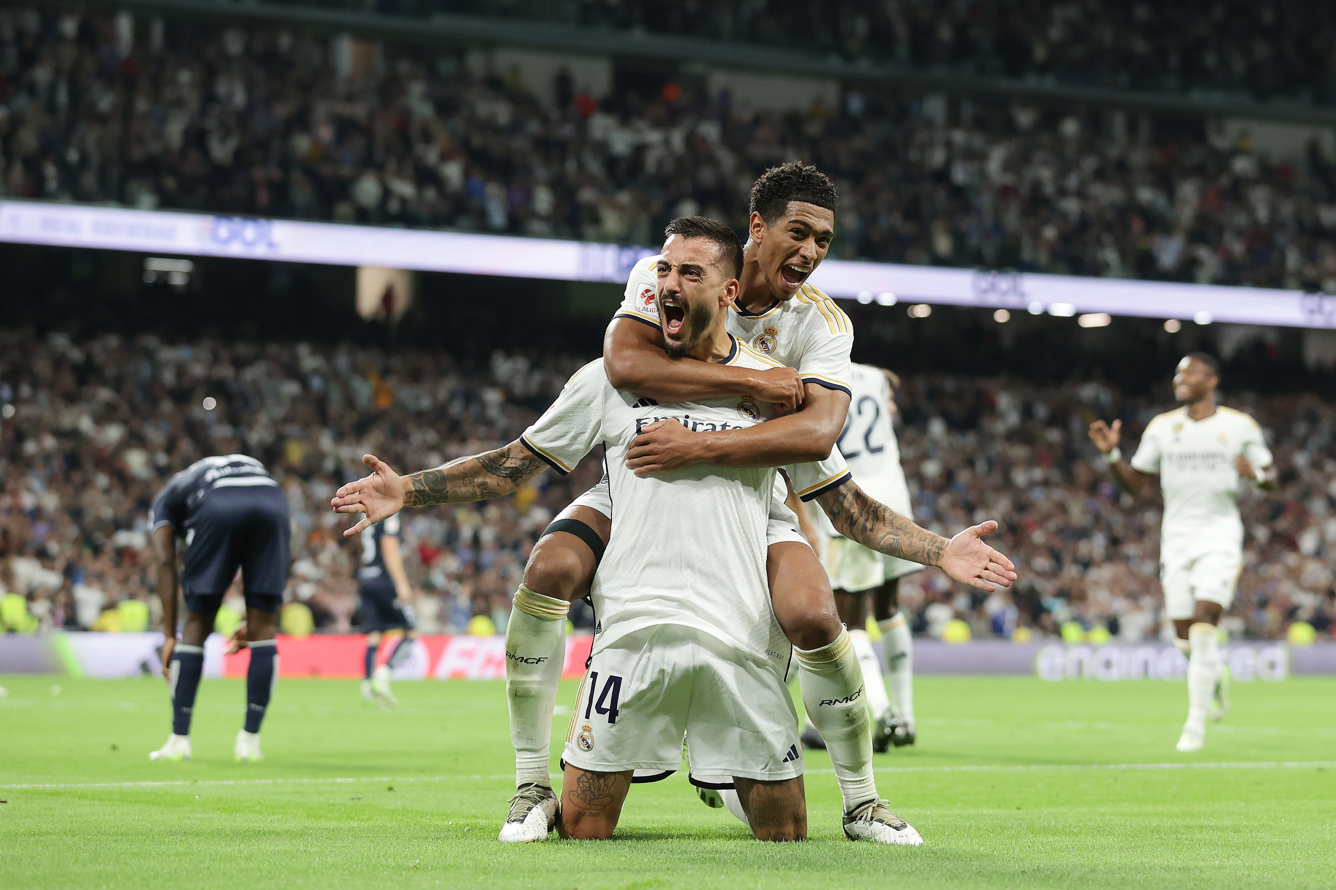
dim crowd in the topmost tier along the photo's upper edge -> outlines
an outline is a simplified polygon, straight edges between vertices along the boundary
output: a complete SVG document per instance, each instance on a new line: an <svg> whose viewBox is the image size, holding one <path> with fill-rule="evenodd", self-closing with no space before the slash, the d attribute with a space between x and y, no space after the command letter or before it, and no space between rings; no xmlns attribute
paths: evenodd
<svg viewBox="0 0 1336 890"><path fill-rule="evenodd" d="M293 1L293 0L289 0ZM363 11L366 0L295 0ZM1329 4L1209 7L1039 0L373 0L436 12L756 43L848 61L1059 84L1284 96L1336 104Z"/></svg>

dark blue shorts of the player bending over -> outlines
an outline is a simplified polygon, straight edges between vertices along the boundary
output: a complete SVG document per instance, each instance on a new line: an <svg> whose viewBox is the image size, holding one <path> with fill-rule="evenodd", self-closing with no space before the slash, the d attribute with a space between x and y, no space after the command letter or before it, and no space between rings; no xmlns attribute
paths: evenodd
<svg viewBox="0 0 1336 890"><path fill-rule="evenodd" d="M186 530L186 608L208 612L242 570L246 607L277 612L287 587L291 526L278 486L212 488Z"/></svg>

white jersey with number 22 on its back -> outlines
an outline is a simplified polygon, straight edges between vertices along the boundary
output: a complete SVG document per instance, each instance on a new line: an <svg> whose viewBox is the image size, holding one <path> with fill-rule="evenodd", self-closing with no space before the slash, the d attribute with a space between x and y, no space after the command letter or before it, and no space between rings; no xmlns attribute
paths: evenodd
<svg viewBox="0 0 1336 890"><path fill-rule="evenodd" d="M891 383L880 368L870 364L851 364L848 383L848 415L844 416L836 450L844 455L859 488L912 519L910 488L900 468L900 446L891 423ZM839 535L826 511L812 512L827 535Z"/></svg>

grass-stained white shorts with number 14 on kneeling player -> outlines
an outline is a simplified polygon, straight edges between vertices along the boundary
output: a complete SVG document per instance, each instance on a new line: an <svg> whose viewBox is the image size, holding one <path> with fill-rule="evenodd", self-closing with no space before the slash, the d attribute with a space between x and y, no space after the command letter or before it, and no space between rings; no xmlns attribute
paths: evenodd
<svg viewBox="0 0 1336 890"><path fill-rule="evenodd" d="M778 782L803 774L798 711L780 669L695 627L655 624L597 648L562 759L582 770L681 769Z"/></svg>

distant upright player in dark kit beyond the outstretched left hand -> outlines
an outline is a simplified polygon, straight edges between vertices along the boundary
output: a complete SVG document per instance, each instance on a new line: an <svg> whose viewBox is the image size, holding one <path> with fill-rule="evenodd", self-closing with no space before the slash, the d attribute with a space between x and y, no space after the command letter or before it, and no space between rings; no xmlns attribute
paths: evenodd
<svg viewBox="0 0 1336 890"><path fill-rule="evenodd" d="M403 571L403 554L399 550L399 518L390 516L363 528L361 540L362 563L357 568L357 594L362 627L366 630L362 699L370 702L379 698L386 705L395 705L390 691L390 674L413 652L413 640L417 639L413 586ZM399 630L403 635L389 660L377 667L375 652L387 630Z"/></svg>

